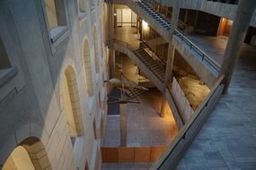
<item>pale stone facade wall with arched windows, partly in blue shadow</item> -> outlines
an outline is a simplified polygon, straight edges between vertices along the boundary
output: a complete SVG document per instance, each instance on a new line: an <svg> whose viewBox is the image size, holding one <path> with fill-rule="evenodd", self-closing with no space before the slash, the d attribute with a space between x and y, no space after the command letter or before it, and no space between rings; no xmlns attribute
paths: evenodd
<svg viewBox="0 0 256 170"><path fill-rule="evenodd" d="M77 1L64 0L66 27L57 37L49 32L44 1L3 0L0 2L0 36L12 66L18 74L0 87L0 165L4 165L22 140L37 137L46 149L52 169L84 169L97 165L101 139L94 139L93 120L102 122L99 102L105 96L103 80L108 76L103 39L103 4L93 11L85 1L86 13L78 13ZM95 72L93 27L98 28L100 72ZM90 45L93 70L93 97L86 93L83 42ZM65 70L75 71L84 135L72 146L61 83ZM100 93L100 95L99 95ZM100 99L99 99L100 98ZM100 114L99 114L100 113ZM100 116L100 118L99 118ZM101 124L101 123L100 123ZM95 149L96 147L96 149ZM93 168L93 167L90 167Z"/></svg>

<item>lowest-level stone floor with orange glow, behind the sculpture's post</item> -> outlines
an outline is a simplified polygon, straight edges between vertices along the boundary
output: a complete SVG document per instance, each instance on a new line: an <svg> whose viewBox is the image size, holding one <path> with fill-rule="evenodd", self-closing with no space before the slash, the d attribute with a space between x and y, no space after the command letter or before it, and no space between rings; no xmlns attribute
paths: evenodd
<svg viewBox="0 0 256 170"><path fill-rule="evenodd" d="M128 146L166 146L172 142L178 129L170 114L162 118L160 113L162 93L150 89L139 97L140 104L127 106ZM120 145L119 115L108 115L105 146Z"/></svg>

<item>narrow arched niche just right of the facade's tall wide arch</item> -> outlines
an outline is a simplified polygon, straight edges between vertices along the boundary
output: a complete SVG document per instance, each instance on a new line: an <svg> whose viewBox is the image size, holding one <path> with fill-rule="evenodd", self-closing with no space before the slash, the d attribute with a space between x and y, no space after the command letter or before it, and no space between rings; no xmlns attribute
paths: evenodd
<svg viewBox="0 0 256 170"><path fill-rule="evenodd" d="M84 68L86 74L86 89L89 97L93 96L93 75L91 67L90 46L88 40L84 40Z"/></svg>

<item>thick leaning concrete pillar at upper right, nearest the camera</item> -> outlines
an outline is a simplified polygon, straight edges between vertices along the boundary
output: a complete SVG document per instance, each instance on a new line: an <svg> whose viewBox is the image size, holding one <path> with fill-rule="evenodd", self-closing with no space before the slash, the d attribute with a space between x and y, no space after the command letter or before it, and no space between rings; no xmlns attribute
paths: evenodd
<svg viewBox="0 0 256 170"><path fill-rule="evenodd" d="M235 66L237 64L241 47L243 45L243 39L246 34L246 30L252 20L252 14L256 7L255 0L239 0L236 16L233 22L233 26L230 32L230 36L225 48L225 55L221 65L221 74L225 74L225 89L226 93L232 75L234 73Z"/></svg>

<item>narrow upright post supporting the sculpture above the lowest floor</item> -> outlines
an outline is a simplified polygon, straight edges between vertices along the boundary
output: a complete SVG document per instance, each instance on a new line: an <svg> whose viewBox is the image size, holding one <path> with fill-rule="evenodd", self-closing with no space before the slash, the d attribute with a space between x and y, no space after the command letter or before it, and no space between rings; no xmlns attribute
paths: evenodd
<svg viewBox="0 0 256 170"><path fill-rule="evenodd" d="M127 146L127 103L120 103L120 145Z"/></svg>

